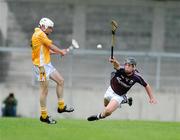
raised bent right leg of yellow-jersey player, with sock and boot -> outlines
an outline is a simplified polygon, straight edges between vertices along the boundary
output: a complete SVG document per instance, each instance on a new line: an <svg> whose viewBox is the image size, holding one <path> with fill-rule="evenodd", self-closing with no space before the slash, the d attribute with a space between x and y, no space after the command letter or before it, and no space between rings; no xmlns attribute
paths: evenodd
<svg viewBox="0 0 180 140"><path fill-rule="evenodd" d="M73 112L74 109L72 107L68 108L65 104L64 104L64 100L63 100L63 90L64 90L64 79L61 76L61 74L55 70L54 72L52 72L50 74L50 78L56 82L57 86L56 86L56 94L58 97L58 112L62 113L62 112Z"/></svg>

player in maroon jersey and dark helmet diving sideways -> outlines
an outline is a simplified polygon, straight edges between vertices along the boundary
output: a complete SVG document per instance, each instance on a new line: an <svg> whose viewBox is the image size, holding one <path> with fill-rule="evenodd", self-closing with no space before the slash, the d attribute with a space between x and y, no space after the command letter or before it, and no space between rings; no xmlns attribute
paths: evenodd
<svg viewBox="0 0 180 140"><path fill-rule="evenodd" d="M112 112L114 112L123 103L132 105L132 98L127 98L126 94L135 83L139 83L145 88L149 97L149 103L157 103L150 85L136 70L136 60L134 58L126 59L123 67L116 58L110 58L109 61L112 63L116 72L113 74L110 86L104 95L105 108L101 113L88 117L88 121L95 121L110 116Z"/></svg>

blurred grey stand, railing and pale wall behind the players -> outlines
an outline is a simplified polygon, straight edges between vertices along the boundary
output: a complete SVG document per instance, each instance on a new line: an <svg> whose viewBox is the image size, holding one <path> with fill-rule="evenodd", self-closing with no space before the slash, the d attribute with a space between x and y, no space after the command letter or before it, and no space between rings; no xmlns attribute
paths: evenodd
<svg viewBox="0 0 180 140"><path fill-rule="evenodd" d="M50 82L52 116L86 119L103 109L113 71L108 58L114 19L119 24L115 57L122 63L128 56L137 59L138 70L152 86L158 104L150 105L144 88L137 84L128 93L133 106L123 105L109 119L180 121L179 0L0 0L0 108L13 92L18 116L39 117L30 39L42 17L54 21L50 38L56 45L67 48L72 38L80 45L63 58L52 56L65 79L65 101L75 107L74 113L59 115L55 83Z"/></svg>

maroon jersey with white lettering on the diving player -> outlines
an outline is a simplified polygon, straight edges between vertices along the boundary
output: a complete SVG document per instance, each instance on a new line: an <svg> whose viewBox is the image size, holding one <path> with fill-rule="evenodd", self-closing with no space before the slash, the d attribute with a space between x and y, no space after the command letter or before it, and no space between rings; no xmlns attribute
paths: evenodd
<svg viewBox="0 0 180 140"><path fill-rule="evenodd" d="M133 75L127 76L124 68L117 70L110 82L111 88L118 95L126 94L135 83L139 83L144 87L147 86L147 83L138 72L135 71Z"/></svg>

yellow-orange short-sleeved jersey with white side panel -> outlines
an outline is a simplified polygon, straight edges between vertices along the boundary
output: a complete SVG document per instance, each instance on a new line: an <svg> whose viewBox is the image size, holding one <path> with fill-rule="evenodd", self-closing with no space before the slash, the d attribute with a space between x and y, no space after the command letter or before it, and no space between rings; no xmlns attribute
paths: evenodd
<svg viewBox="0 0 180 140"><path fill-rule="evenodd" d="M50 45L52 45L52 40L40 28L35 28L31 39L32 62L34 65L44 66L51 62Z"/></svg>

